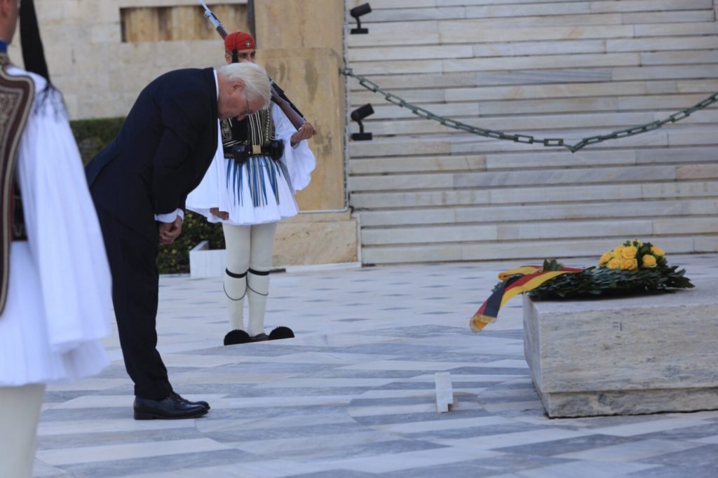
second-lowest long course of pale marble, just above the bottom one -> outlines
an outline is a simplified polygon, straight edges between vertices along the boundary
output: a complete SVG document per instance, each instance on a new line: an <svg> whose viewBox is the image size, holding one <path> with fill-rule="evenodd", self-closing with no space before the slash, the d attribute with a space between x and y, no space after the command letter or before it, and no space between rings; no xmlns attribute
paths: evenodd
<svg viewBox="0 0 718 478"><path fill-rule="evenodd" d="M620 205L614 205L618 207ZM630 205L625 205L630 207ZM507 240L584 240L597 235L643 238L649 235L717 234L718 224L706 217L607 217L600 220L529 220L454 225L416 225L396 228L361 228L361 243L419 245Z"/></svg>

